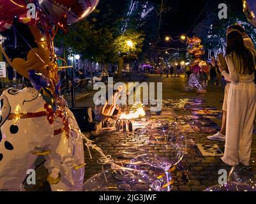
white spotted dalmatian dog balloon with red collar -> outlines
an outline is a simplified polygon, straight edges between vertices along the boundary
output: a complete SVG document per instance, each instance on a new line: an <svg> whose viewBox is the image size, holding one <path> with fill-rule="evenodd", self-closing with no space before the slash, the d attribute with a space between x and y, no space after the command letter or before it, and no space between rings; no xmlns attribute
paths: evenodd
<svg viewBox="0 0 256 204"><path fill-rule="evenodd" d="M0 191L19 191L27 170L46 154L52 191L82 190L84 148L73 113L66 108L54 117L41 94L27 87L4 91L0 102Z"/></svg>

